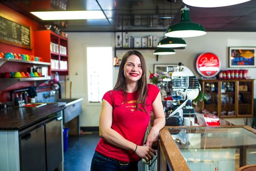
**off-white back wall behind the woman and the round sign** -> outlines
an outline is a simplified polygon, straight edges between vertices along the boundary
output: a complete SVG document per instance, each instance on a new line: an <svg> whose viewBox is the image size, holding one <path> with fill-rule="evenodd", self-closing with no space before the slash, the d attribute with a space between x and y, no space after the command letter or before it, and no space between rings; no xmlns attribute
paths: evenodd
<svg viewBox="0 0 256 171"><path fill-rule="evenodd" d="M163 36L162 32L134 32L134 36L158 35ZM98 126L101 104L89 105L87 101L87 75L86 75L86 46L112 46L113 57L115 47L114 33L69 33L69 75L72 81L72 98L83 97L81 126ZM204 36L184 38L187 47L183 50L175 50L175 55L156 56L153 55L154 50L141 50L146 60L147 74L149 70L153 72L154 64L182 62L188 67L198 78L200 75L196 70L196 58L201 53L214 53L221 61L221 70L228 68L228 47L256 47L256 32L207 32ZM122 58L126 50L117 51L117 56ZM97 58L95 58L97 62ZM232 68L233 69L233 68ZM248 76L252 79L256 78L254 74L256 68L247 68ZM77 73L77 75L76 75ZM115 85L118 67L113 67ZM254 90L255 84L254 84ZM69 97L69 96L68 96ZM256 93L254 91L254 98ZM243 119L235 120L236 124L244 124Z"/></svg>

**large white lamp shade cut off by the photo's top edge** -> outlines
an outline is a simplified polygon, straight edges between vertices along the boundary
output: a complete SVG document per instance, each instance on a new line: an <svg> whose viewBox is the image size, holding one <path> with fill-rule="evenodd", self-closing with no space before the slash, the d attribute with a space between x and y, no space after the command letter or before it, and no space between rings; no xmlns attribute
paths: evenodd
<svg viewBox="0 0 256 171"><path fill-rule="evenodd" d="M183 3L193 7L225 7L245 3L251 0L182 0Z"/></svg>

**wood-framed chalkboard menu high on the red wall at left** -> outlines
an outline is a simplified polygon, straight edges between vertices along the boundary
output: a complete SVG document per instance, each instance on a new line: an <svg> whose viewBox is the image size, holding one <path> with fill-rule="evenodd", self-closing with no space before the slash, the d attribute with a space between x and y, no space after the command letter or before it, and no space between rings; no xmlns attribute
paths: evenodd
<svg viewBox="0 0 256 171"><path fill-rule="evenodd" d="M30 27L13 22L0 15L0 42L32 49Z"/></svg>

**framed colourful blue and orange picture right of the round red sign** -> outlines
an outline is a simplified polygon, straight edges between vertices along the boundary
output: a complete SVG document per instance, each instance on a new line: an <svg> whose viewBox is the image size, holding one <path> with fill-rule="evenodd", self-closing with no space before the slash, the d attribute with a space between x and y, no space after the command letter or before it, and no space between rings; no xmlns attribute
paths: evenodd
<svg viewBox="0 0 256 171"><path fill-rule="evenodd" d="M256 67L256 47L229 47L228 67L229 68L250 68Z"/></svg>

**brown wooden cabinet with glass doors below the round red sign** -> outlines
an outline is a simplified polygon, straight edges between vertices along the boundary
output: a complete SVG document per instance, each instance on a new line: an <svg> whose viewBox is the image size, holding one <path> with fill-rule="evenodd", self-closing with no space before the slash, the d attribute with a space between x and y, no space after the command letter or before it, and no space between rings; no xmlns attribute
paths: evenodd
<svg viewBox="0 0 256 171"><path fill-rule="evenodd" d="M233 82L233 92L222 92L223 83ZM211 96L212 104L205 104L206 102L203 100L202 102L198 102L198 105L202 109L207 109L210 113L215 111L217 112L218 117L220 118L237 118L237 117L253 117L254 111L254 100L253 100L253 84L254 79L205 79L200 80L202 93L208 93ZM214 92L206 92L206 84L215 84ZM239 91L239 86L245 86L247 91ZM232 104L223 104L222 95L227 94L228 96L232 96ZM243 96L244 101L241 102L240 96ZM233 110L232 115L228 115L226 113L222 113L223 110Z"/></svg>

